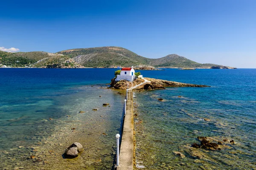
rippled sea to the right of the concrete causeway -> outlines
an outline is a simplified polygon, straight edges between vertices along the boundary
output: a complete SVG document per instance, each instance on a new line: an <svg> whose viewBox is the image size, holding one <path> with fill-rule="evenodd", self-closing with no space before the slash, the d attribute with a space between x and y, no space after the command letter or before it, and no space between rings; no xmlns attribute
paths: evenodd
<svg viewBox="0 0 256 170"><path fill-rule="evenodd" d="M256 69L141 73L212 87L135 92L138 168L256 169ZM191 148L194 142L200 144L197 136L209 136L215 142L233 139L235 144L225 144L221 151ZM186 157L181 159L174 151Z"/></svg>

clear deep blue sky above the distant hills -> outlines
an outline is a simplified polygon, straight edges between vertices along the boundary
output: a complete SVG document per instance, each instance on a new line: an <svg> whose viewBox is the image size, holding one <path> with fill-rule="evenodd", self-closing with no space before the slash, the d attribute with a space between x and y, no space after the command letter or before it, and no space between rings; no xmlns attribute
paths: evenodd
<svg viewBox="0 0 256 170"><path fill-rule="evenodd" d="M0 47L55 53L100 46L256 68L256 0L0 3Z"/></svg>

